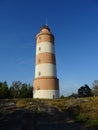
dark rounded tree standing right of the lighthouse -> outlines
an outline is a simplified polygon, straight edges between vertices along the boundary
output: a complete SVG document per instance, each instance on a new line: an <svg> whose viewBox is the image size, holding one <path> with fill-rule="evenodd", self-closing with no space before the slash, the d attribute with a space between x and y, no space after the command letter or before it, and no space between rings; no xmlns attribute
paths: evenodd
<svg viewBox="0 0 98 130"><path fill-rule="evenodd" d="M81 86L78 89L78 96L79 97L86 97L86 96L91 96L92 95L92 90L90 89L90 87L85 84L84 86Z"/></svg>

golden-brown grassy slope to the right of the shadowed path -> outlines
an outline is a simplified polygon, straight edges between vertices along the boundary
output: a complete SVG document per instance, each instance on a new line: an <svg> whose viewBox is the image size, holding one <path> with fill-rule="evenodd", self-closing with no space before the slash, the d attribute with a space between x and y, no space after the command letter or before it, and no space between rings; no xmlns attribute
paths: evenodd
<svg viewBox="0 0 98 130"><path fill-rule="evenodd" d="M98 129L98 97L66 98L46 100L61 111L68 112L70 116L85 128Z"/></svg>

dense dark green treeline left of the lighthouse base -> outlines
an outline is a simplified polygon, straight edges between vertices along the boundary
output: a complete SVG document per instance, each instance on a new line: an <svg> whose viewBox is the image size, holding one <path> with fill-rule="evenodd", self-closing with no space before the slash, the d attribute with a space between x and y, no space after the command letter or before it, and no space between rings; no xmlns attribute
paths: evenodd
<svg viewBox="0 0 98 130"><path fill-rule="evenodd" d="M13 81L11 86L7 82L0 82L0 99L32 98L33 87L20 81Z"/></svg>

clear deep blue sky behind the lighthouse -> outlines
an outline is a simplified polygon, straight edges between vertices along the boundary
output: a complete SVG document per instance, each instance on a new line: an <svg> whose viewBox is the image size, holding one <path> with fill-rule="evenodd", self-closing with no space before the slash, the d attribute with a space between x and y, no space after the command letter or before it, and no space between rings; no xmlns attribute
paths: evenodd
<svg viewBox="0 0 98 130"><path fill-rule="evenodd" d="M55 35L60 94L98 79L97 0L0 0L0 81L33 84L35 36L47 23Z"/></svg>

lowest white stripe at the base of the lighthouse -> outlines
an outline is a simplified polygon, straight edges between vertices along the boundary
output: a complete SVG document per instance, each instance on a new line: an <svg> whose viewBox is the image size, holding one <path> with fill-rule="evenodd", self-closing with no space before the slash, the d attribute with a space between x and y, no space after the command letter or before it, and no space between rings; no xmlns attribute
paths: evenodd
<svg viewBox="0 0 98 130"><path fill-rule="evenodd" d="M59 98L59 90L35 90L33 91L34 98Z"/></svg>

